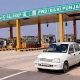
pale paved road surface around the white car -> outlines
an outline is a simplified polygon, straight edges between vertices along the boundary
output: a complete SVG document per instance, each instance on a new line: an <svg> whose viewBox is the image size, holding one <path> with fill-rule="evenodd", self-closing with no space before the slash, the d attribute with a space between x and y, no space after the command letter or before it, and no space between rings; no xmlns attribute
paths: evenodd
<svg viewBox="0 0 80 80"><path fill-rule="evenodd" d="M70 68L66 74L60 71L37 71L34 60L41 52L0 52L0 80L80 80L79 65Z"/></svg>

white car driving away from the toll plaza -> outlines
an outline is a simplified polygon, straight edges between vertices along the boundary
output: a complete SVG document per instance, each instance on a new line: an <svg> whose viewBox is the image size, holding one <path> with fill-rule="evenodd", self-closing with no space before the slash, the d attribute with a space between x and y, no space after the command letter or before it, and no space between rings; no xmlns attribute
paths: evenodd
<svg viewBox="0 0 80 80"><path fill-rule="evenodd" d="M79 45L75 42L59 42L51 44L49 48L38 55L35 66L39 71L50 69L67 72L70 66L79 62Z"/></svg>

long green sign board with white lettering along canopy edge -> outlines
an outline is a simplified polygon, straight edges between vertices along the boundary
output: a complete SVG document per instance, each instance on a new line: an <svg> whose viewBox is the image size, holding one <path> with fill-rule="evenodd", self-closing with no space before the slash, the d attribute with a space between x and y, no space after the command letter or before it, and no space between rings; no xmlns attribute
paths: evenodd
<svg viewBox="0 0 80 80"><path fill-rule="evenodd" d="M80 2L68 5L4 14L0 15L0 21L29 18L34 16L48 15L48 14L59 14L59 13L73 12L73 11L80 11Z"/></svg>

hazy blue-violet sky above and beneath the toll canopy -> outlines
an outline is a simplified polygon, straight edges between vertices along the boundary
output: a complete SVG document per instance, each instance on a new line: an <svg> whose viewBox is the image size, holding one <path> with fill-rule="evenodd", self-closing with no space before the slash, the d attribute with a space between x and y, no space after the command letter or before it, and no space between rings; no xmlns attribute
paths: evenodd
<svg viewBox="0 0 80 80"><path fill-rule="evenodd" d="M32 10L50 6L57 6L62 4L69 4L74 2L80 2L80 0L0 0L0 15L18 11ZM80 38L80 21L77 21L77 38ZM59 23L42 24L42 35L54 34L59 38ZM73 34L73 23L68 22L68 26L65 27L65 33ZM15 28L13 29L14 37L16 36ZM23 26L21 27L21 36L37 35L37 25ZM0 29L0 37L9 37L9 28Z"/></svg>

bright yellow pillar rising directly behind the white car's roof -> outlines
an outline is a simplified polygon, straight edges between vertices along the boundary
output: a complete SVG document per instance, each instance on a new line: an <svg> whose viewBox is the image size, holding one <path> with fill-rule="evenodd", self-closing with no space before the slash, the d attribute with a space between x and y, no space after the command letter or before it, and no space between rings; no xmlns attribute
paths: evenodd
<svg viewBox="0 0 80 80"><path fill-rule="evenodd" d="M59 14L60 42L64 41L63 14Z"/></svg>

